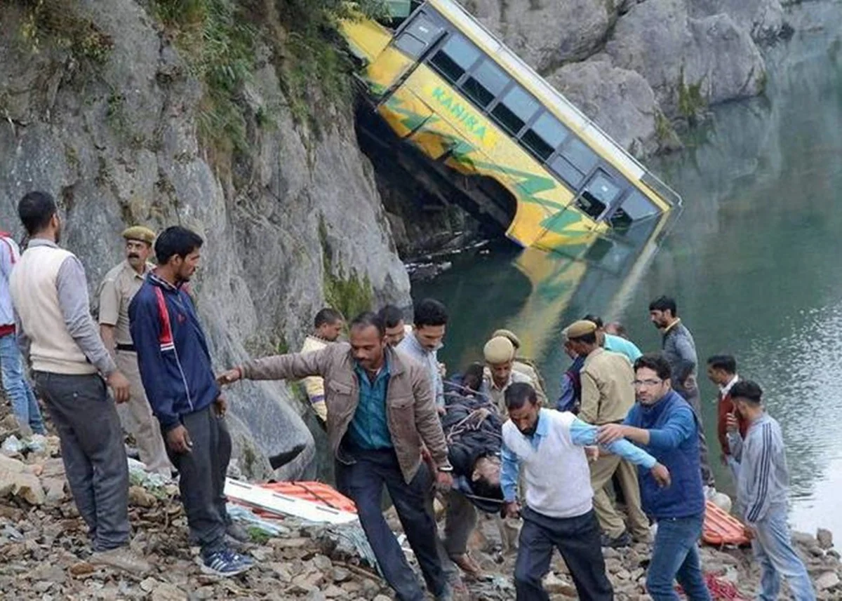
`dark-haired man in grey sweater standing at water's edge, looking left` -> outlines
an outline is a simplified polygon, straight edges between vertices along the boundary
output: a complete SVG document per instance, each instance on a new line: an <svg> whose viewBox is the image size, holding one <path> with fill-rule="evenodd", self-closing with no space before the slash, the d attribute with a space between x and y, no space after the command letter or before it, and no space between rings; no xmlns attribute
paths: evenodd
<svg viewBox="0 0 842 601"><path fill-rule="evenodd" d="M707 460L707 440L701 417L701 402L699 399L698 365L699 359L695 353L695 341L690 330L681 323L675 300L669 296L659 296L649 303L649 318L655 327L661 331L661 348L663 356L672 368L673 390L683 396L693 407L699 420L699 453L701 455L701 483L706 487L706 496L715 490L713 471Z"/></svg>

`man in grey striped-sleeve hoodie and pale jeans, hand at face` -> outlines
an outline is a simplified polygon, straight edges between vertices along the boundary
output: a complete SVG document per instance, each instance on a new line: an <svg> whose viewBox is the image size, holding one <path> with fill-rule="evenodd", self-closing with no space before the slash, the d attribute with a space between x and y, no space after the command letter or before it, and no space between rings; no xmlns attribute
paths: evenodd
<svg viewBox="0 0 842 601"><path fill-rule="evenodd" d="M792 548L786 524L789 471L786 468L781 426L766 412L763 391L751 380L739 380L731 389L737 410L749 422L740 436L737 418L728 416L728 446L738 461L737 504L746 534L760 563L758 599L773 601L781 591L781 576L796 601L815 601L816 593L804 562Z"/></svg>

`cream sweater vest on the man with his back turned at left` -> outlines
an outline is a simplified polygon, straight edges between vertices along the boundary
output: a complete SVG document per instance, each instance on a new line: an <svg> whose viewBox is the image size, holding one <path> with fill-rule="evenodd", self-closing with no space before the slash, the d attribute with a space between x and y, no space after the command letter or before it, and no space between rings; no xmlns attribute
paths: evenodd
<svg viewBox="0 0 842 601"><path fill-rule="evenodd" d="M35 371L69 375L97 373L97 368L88 362L67 332L58 302L58 271L72 256L63 248L27 248L9 277L12 302L29 337L29 357Z"/></svg>

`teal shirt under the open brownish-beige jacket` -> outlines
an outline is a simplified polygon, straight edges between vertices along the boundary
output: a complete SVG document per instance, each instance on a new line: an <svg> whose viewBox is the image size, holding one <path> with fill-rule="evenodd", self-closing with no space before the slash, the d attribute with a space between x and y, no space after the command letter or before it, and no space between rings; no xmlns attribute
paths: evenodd
<svg viewBox="0 0 842 601"><path fill-rule="evenodd" d="M351 442L360 449L392 449L392 433L386 418L389 364L383 364L373 382L360 364L354 364L354 372L360 380L360 402L348 426Z"/></svg>

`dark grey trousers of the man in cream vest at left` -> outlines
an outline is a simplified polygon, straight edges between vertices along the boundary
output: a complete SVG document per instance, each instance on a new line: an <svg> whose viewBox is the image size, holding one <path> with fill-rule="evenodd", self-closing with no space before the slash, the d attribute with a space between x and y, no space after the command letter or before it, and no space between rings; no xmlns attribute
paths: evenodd
<svg viewBox="0 0 842 601"><path fill-rule="evenodd" d="M35 372L61 440L61 460L93 550L129 540L129 466L114 401L99 375Z"/></svg>

